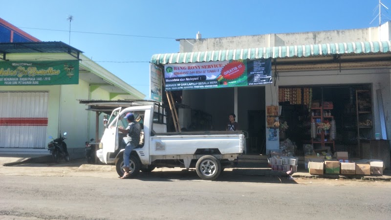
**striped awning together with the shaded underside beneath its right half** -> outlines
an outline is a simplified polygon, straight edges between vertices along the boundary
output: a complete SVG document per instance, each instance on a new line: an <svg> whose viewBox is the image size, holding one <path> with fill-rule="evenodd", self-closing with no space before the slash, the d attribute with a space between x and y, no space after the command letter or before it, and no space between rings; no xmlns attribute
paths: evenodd
<svg viewBox="0 0 391 220"><path fill-rule="evenodd" d="M332 44L308 44L292 46L257 47L245 49L198 51L186 53L154 54L151 63L156 65L182 64L211 61L273 59L280 70L313 68L344 68L357 61L367 66L390 66L391 41L350 42ZM373 63L375 62L375 63ZM377 63L376 63L377 62ZM300 67L297 64L300 63ZM347 65L348 64L348 65ZM361 65L361 66L366 66Z"/></svg>

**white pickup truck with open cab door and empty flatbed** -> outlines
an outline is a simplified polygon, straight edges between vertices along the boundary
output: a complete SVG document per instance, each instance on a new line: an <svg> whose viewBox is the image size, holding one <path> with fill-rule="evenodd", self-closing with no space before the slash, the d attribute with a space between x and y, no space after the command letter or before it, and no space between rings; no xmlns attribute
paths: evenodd
<svg viewBox="0 0 391 220"><path fill-rule="evenodd" d="M165 110L156 102L132 102L133 107L119 107L111 112L97 150L106 164L115 164L119 176L124 170L120 126L126 128L128 112L142 124L140 144L130 154L130 177L156 167L195 168L201 179L214 180L225 167L232 167L246 147L244 131L167 132ZM123 147L121 147L123 146Z"/></svg>

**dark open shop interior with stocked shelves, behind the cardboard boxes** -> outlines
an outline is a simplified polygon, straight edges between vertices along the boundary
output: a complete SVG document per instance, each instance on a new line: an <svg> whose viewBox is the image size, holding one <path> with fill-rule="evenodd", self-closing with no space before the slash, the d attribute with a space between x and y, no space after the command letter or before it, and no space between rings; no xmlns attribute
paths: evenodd
<svg viewBox="0 0 391 220"><path fill-rule="evenodd" d="M358 157L359 139L373 138L371 85L280 87L280 141L290 139L296 155L314 150L347 151Z"/></svg>

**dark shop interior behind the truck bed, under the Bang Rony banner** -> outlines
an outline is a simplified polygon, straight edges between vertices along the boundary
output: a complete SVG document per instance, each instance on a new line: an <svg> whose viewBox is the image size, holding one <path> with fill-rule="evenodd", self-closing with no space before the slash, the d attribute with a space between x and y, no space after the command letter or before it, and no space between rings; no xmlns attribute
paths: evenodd
<svg viewBox="0 0 391 220"><path fill-rule="evenodd" d="M172 95L176 110L186 115L183 131L225 131L228 116L234 113L235 88L179 90ZM167 97L163 96L163 102L167 103ZM168 131L174 132L171 117L168 112ZM265 87L238 88L236 121L239 130L248 132L247 154L265 154Z"/></svg>

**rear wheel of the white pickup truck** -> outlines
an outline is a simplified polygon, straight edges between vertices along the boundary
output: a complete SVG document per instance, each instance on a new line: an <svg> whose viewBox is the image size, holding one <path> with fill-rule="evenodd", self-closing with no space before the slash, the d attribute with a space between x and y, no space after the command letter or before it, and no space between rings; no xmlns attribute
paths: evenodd
<svg viewBox="0 0 391 220"><path fill-rule="evenodd" d="M220 161L212 155L201 156L195 164L197 175L204 180L214 180L221 173Z"/></svg>

